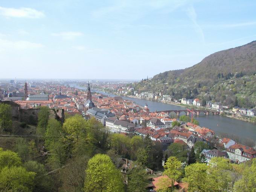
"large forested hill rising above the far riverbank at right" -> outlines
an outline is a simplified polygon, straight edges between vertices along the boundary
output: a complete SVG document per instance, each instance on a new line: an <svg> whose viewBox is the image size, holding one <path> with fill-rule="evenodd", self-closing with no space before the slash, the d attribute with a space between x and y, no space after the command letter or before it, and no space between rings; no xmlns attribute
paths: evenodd
<svg viewBox="0 0 256 192"><path fill-rule="evenodd" d="M172 70L134 84L136 90L170 94L176 99L195 98L227 105L256 104L256 41L222 50L200 63Z"/></svg>

